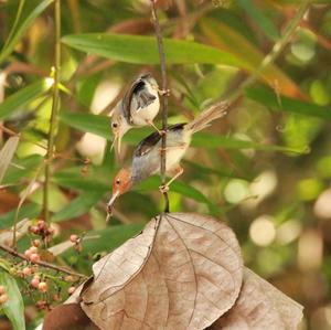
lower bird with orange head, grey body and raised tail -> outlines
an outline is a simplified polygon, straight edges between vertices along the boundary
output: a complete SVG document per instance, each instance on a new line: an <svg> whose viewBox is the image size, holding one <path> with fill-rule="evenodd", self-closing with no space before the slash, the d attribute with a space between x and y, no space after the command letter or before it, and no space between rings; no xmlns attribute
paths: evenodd
<svg viewBox="0 0 331 330"><path fill-rule="evenodd" d="M130 167L122 168L113 180L113 195L107 204L108 214L113 213L115 201L129 191L135 184L160 172L160 153L166 151L166 174L172 177L170 181L160 187L161 192L167 192L169 185L183 173L180 161L186 152L192 136L209 127L211 121L226 115L227 102L220 102L203 110L190 123L169 126L167 129L166 150L162 149L162 137L152 132L139 142L134 151Z"/></svg>

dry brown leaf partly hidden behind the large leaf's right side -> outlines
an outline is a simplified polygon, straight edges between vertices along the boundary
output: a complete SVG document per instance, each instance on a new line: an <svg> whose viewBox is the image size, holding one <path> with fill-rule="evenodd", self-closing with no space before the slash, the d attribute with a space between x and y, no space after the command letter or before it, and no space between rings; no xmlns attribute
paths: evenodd
<svg viewBox="0 0 331 330"><path fill-rule="evenodd" d="M210 330L293 330L302 319L302 306L245 268L235 306Z"/></svg>

